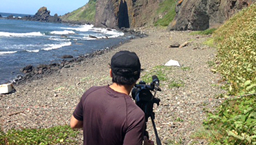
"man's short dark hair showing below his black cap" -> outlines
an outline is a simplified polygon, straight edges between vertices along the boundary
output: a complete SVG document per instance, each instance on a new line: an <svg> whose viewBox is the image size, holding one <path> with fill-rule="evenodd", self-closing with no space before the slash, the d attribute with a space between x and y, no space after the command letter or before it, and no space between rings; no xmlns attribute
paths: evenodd
<svg viewBox="0 0 256 145"><path fill-rule="evenodd" d="M129 70L121 69L119 71L125 73L125 72L128 72ZM112 77L113 83L120 84L120 85L133 85L140 78L140 71L138 71L136 75L130 75L127 77L116 75L115 73L113 73L113 71L112 71L112 75L113 75Z"/></svg>

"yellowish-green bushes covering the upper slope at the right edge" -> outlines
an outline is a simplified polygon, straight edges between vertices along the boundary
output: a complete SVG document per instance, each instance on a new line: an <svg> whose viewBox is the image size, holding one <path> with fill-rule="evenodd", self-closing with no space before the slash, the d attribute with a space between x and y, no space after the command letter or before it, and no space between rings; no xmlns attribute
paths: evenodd
<svg viewBox="0 0 256 145"><path fill-rule="evenodd" d="M241 10L216 30L214 41L219 43L216 68L228 80L230 95L255 93L256 5Z"/></svg>

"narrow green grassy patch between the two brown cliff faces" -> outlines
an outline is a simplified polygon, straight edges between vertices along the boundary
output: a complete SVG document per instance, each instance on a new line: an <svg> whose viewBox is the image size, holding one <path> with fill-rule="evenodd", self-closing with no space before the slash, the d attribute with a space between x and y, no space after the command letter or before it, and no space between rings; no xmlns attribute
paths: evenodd
<svg viewBox="0 0 256 145"><path fill-rule="evenodd" d="M155 26L168 26L169 23L174 19L176 12L176 1L175 0L165 0L159 4L159 8L157 10L158 15L163 15L161 19L158 19Z"/></svg>

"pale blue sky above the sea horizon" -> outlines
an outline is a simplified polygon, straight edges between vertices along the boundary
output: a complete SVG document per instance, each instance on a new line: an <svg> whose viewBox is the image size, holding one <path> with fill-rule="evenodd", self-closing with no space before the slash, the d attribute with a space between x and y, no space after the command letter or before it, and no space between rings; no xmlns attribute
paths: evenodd
<svg viewBox="0 0 256 145"><path fill-rule="evenodd" d="M0 12L35 14L45 6L51 15L64 15L84 6L89 0L0 0Z"/></svg>

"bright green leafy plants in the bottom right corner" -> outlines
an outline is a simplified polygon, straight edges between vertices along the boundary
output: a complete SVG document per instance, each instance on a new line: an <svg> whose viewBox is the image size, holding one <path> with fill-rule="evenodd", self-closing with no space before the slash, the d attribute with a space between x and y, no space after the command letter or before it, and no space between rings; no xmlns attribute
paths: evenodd
<svg viewBox="0 0 256 145"><path fill-rule="evenodd" d="M204 125L217 144L256 144L256 95L225 101Z"/></svg>

